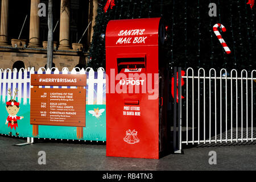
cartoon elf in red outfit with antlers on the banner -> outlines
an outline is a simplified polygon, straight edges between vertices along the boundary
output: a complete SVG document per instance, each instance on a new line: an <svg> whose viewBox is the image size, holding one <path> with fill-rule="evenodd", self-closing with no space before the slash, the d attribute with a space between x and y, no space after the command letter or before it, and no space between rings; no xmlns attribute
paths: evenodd
<svg viewBox="0 0 256 182"><path fill-rule="evenodd" d="M9 94L11 96L11 89L9 88L8 89L9 91ZM14 98L16 96L16 94L18 93L18 89L15 89L15 92L14 92ZM9 114L9 116L7 117L6 119L6 125L8 123L8 127L10 127L10 132L9 132L9 135L11 135L11 130L14 128L15 130L15 134L16 136L19 135L19 133L16 131L16 127L18 127L18 120L19 119L23 119L23 116L22 117L19 117L17 116L16 114L18 114L18 111L19 111L19 102L16 102L13 97L11 96L11 100L6 102L6 110L7 110L7 113Z"/></svg>

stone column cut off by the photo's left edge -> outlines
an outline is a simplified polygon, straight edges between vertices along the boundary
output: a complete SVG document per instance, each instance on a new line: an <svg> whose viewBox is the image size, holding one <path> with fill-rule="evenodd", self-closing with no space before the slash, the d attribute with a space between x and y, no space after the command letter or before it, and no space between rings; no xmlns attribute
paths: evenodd
<svg viewBox="0 0 256 182"><path fill-rule="evenodd" d="M8 40L7 40L8 9L9 9L9 0L2 0L1 24L0 24L0 46L8 46Z"/></svg>

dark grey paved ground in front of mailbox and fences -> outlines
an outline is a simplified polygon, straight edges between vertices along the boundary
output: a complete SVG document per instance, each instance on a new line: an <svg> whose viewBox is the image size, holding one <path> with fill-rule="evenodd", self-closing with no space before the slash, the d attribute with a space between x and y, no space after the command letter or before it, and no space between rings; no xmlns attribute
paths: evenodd
<svg viewBox="0 0 256 182"><path fill-rule="evenodd" d="M106 157L102 144L37 141L0 137L0 170L256 170L256 144L185 148L184 154L156 159ZM38 152L46 152L46 165L38 164ZM209 151L216 151L217 164L210 165Z"/></svg>

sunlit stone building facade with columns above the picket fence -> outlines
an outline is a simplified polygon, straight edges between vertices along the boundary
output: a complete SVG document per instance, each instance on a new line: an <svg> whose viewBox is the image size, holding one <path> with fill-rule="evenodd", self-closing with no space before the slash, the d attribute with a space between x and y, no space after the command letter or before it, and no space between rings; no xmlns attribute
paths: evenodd
<svg viewBox="0 0 256 182"><path fill-rule="evenodd" d="M43 5L48 9L47 2L1 0L0 68L46 67L47 14L38 12ZM59 70L85 67L96 10L97 0L53 1L53 66Z"/></svg>

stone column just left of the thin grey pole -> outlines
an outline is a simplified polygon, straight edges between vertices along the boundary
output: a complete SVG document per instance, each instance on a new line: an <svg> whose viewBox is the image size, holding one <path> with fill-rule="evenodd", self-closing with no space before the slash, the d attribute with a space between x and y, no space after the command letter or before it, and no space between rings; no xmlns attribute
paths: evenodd
<svg viewBox="0 0 256 182"><path fill-rule="evenodd" d="M39 31L40 31L40 18L38 16L40 0L31 0L30 6L30 42L28 47L40 47L39 44Z"/></svg>

